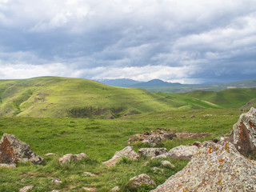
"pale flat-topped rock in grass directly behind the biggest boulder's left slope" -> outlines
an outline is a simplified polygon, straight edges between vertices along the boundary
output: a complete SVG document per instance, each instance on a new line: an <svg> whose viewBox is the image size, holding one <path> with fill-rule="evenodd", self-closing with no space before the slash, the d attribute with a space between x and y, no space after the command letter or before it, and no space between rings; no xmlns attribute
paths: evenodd
<svg viewBox="0 0 256 192"><path fill-rule="evenodd" d="M176 146L169 151L171 158L190 159L198 152L197 146Z"/></svg>

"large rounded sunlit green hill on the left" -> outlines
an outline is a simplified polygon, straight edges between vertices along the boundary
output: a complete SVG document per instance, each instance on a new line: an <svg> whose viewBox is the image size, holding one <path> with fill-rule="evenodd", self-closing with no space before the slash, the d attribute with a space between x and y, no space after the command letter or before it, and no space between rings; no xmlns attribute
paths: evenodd
<svg viewBox="0 0 256 192"><path fill-rule="evenodd" d="M127 112L172 110L182 105L146 90L55 77L0 81L0 98L1 116L23 117L115 118Z"/></svg>

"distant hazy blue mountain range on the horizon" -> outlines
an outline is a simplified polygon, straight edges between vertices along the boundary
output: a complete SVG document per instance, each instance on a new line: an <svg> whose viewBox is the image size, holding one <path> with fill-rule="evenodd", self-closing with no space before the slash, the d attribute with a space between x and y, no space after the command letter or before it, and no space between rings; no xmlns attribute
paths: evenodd
<svg viewBox="0 0 256 192"><path fill-rule="evenodd" d="M256 88L256 80L240 82L228 82L218 84L181 84L178 82L164 82L160 79L153 79L149 82L138 82L129 78L97 80L109 86L142 88L156 92L184 93L193 90L226 90L232 88Z"/></svg>

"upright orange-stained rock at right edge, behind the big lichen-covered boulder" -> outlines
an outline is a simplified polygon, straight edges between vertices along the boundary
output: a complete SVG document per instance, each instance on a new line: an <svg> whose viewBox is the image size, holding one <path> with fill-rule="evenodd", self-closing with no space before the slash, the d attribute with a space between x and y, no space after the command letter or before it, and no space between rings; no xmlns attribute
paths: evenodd
<svg viewBox="0 0 256 192"><path fill-rule="evenodd" d="M253 107L246 114L241 114L233 126L234 145L241 154L256 151L256 109Z"/></svg>

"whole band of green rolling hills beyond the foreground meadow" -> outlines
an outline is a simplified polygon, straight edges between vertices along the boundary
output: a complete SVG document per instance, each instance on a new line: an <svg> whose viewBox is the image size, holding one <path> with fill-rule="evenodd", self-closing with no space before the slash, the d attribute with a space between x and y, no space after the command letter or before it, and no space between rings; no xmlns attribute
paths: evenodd
<svg viewBox="0 0 256 192"><path fill-rule="evenodd" d="M82 78L0 80L0 117L118 118L167 110L239 108L256 89L153 93Z"/></svg>

